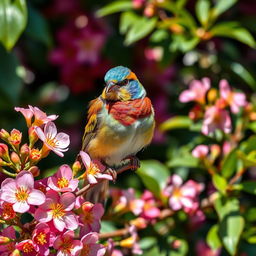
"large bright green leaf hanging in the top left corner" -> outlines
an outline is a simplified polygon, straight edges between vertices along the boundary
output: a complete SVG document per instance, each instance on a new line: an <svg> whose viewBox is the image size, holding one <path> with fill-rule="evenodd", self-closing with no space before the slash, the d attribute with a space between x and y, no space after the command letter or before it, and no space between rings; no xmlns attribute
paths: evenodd
<svg viewBox="0 0 256 256"><path fill-rule="evenodd" d="M11 50L27 24L25 0L0 1L0 42Z"/></svg>

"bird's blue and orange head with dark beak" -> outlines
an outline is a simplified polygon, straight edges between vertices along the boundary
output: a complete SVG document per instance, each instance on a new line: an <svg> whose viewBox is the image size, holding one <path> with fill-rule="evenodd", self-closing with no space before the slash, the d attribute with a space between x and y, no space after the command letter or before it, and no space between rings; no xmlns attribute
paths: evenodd
<svg viewBox="0 0 256 256"><path fill-rule="evenodd" d="M146 91L136 75L123 66L111 68L105 75L106 87L102 97L112 101L128 101L144 98Z"/></svg>

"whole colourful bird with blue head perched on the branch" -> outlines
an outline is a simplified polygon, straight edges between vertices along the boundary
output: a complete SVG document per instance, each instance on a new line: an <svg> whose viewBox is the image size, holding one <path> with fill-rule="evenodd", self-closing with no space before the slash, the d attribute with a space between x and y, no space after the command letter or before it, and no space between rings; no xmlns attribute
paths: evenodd
<svg viewBox="0 0 256 256"><path fill-rule="evenodd" d="M150 144L154 135L154 108L129 68L111 68L104 81L101 95L89 103L82 151L113 169L130 159L130 167L135 169L139 166L136 154ZM107 189L108 181L101 182L86 194L86 199L102 202Z"/></svg>

